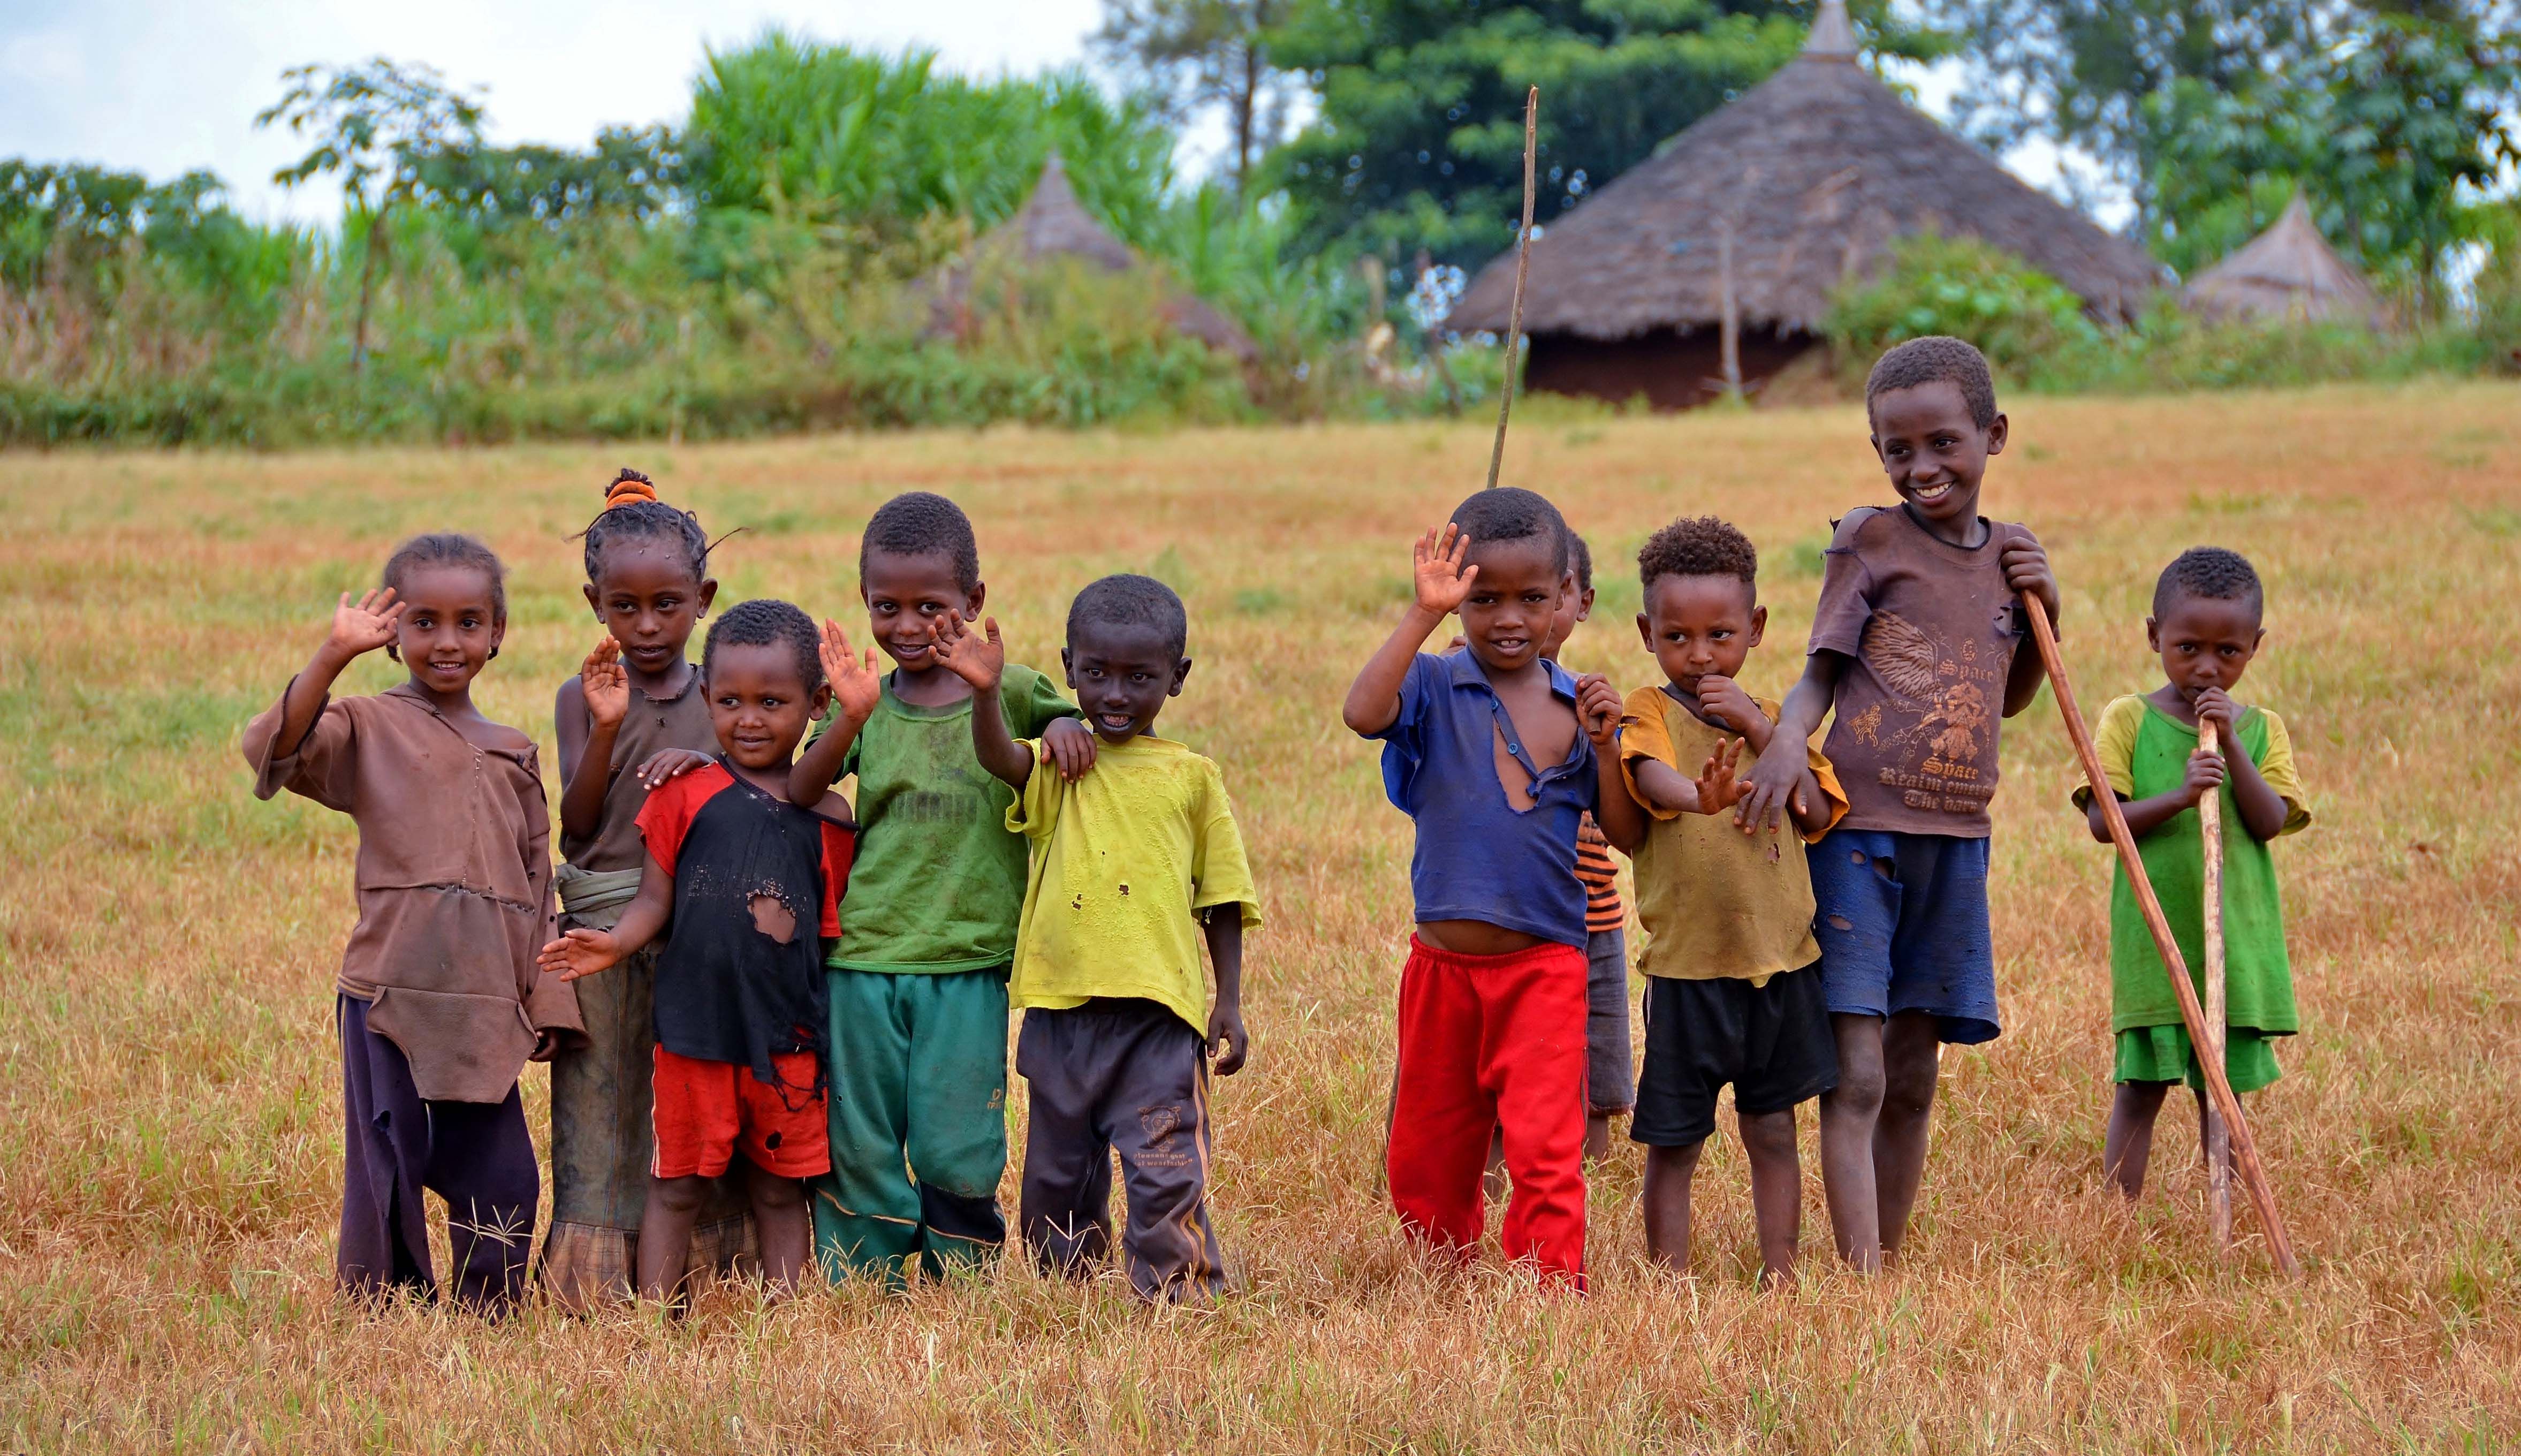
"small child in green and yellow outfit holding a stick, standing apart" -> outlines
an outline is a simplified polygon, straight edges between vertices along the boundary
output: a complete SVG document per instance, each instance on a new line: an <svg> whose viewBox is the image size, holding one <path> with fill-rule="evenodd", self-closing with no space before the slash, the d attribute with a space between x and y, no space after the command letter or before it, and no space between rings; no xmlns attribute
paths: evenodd
<svg viewBox="0 0 2521 1456"><path fill-rule="evenodd" d="M2312 813L2302 802L2284 719L2231 702L2231 689L2241 684L2266 636L2259 626L2264 603L2259 573L2239 553L2213 545L2183 550L2163 568L2153 588L2153 616L2145 618L2145 641L2163 656L2168 681L2145 696L2113 702L2095 734L2100 767L2125 805L2145 878L2163 901L2201 999L2206 840L2196 807L2206 795L2224 797L2224 1075L2234 1093L2274 1083L2274 1037L2302 1027L2284 956L2276 860L2266 845L2312 823ZM2201 722L2216 727L2224 752L2198 747ZM2231 752L2231 744L2244 752ZM2090 787L2075 790L2075 805L2090 820L2092 838L2110 843ZM2145 1191L2153 1118L2163 1110L2163 1098L2173 1083L2186 1080L2198 1093L2203 1118L2206 1077L2125 868L2110 886L2110 1030L2118 1035L2118 1100L2110 1103L2100 1166L2135 1199Z"/></svg>

